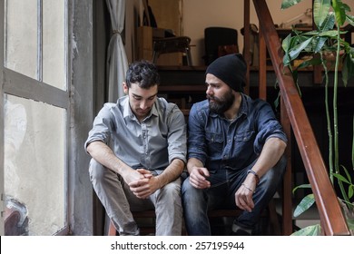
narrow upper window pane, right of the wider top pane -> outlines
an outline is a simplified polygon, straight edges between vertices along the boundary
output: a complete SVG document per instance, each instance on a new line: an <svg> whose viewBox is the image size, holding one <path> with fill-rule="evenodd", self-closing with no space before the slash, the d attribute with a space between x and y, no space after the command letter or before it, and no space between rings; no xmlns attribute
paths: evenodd
<svg viewBox="0 0 354 254"><path fill-rule="evenodd" d="M66 89L65 1L43 1L43 81Z"/></svg>

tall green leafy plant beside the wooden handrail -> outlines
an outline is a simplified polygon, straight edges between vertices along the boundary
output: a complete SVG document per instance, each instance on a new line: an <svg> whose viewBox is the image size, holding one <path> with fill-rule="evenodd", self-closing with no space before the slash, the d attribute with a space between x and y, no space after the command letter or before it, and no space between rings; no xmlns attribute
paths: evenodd
<svg viewBox="0 0 354 254"><path fill-rule="evenodd" d="M281 9L297 5L302 0L283 0ZM332 184L337 182L340 195L339 202L347 218L349 230L354 235L354 181L351 180L350 171L354 171L354 138L351 151L351 168L339 164L339 122L338 122L338 85L339 68L345 86L354 76L354 48L346 42L341 35L345 32L342 27L345 23L354 25L354 16L349 15L349 5L340 0L314 0L312 8L315 29L301 33L293 30L282 42L284 50L283 64L290 68L294 81L297 83L298 71L301 68L320 65L324 72L325 107L327 129L329 135L329 178ZM301 60L301 64L294 67L294 60L300 59L301 54L308 57ZM309 57L310 55L310 57ZM331 56L331 57L330 57ZM332 110L329 107L329 68L334 70ZM354 120L353 120L354 133ZM310 184L296 187L310 188ZM315 202L313 194L304 197L294 211L299 216ZM320 225L312 225L299 230L293 235L320 235Z"/></svg>

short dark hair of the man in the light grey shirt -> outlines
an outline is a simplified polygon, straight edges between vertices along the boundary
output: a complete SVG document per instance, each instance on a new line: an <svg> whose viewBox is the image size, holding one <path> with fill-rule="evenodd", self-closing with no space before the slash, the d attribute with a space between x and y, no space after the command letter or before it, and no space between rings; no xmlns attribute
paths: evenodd
<svg viewBox="0 0 354 254"><path fill-rule="evenodd" d="M132 83L138 83L139 87L147 89L160 84L160 74L155 64L142 60L129 65L125 82L128 87Z"/></svg>

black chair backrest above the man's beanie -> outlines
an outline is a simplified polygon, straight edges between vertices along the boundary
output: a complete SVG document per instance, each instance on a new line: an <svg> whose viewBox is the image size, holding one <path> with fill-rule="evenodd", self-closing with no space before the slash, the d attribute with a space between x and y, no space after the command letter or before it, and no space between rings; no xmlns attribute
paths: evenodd
<svg viewBox="0 0 354 254"><path fill-rule="evenodd" d="M234 45L238 48L237 30L228 27L207 27L204 29L205 65L211 64L220 55L220 46Z"/></svg>

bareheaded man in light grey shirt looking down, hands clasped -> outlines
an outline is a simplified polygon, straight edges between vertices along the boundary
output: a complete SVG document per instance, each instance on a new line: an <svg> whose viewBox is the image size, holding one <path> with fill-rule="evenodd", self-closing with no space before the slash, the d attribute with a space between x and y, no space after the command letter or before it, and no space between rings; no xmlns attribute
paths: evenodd
<svg viewBox="0 0 354 254"><path fill-rule="evenodd" d="M90 179L120 235L139 235L131 210L155 210L156 235L182 234L180 175L186 124L176 104L158 98L154 64L129 66L117 103L105 103L84 144Z"/></svg>

